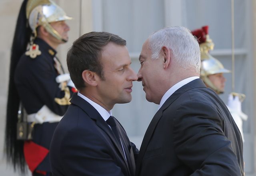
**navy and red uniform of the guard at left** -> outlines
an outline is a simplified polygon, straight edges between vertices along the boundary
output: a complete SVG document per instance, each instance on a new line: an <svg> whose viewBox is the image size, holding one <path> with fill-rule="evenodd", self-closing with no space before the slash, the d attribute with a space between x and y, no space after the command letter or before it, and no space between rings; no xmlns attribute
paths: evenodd
<svg viewBox="0 0 256 176"><path fill-rule="evenodd" d="M41 54L36 58L30 58L23 54L15 70L14 82L20 96L20 100L32 119L33 114L38 113L43 107L51 112L51 120L60 119L68 108L68 103L58 104L58 100L65 96L56 82L56 76L60 74L57 70L58 64L54 61L56 51L44 40L36 38L34 44L39 46ZM70 97L75 91L68 86ZM56 99L57 98L57 99ZM44 120L44 118L42 118ZM30 119L31 120L31 119ZM35 119L35 121L37 121ZM58 121L58 120L55 120ZM49 147L54 129L58 122L37 123L34 126L32 141L24 143L24 156L31 172L36 170L50 172Z"/></svg>

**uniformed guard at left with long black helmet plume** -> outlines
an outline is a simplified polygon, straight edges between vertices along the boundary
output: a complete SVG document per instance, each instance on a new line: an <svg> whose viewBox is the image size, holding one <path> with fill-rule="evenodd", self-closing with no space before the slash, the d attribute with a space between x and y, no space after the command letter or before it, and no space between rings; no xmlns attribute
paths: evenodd
<svg viewBox="0 0 256 176"><path fill-rule="evenodd" d="M68 40L70 28L64 20L70 19L51 0L24 0L20 8L12 43L5 143L14 170L25 172L26 161L33 175L50 174L52 134L75 91L72 82L67 86L68 75L56 58L57 46Z"/></svg>

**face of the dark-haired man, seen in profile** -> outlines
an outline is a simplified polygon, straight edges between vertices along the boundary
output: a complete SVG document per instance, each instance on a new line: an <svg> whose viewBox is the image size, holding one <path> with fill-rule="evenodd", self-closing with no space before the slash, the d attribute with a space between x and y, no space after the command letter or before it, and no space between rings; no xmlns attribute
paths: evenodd
<svg viewBox="0 0 256 176"><path fill-rule="evenodd" d="M101 54L105 78L97 86L101 103L111 109L114 104L130 102L132 81L136 81L138 77L130 66L131 58L126 46L110 42L104 46Z"/></svg>

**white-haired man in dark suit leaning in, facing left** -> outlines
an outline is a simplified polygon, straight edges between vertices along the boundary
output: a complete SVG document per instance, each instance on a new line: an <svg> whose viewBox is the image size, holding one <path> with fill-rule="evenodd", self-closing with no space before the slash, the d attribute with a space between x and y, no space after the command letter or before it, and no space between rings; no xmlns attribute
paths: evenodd
<svg viewBox="0 0 256 176"><path fill-rule="evenodd" d="M136 176L244 175L241 134L220 97L200 75L200 48L190 30L149 36L138 81L159 104L140 148Z"/></svg>

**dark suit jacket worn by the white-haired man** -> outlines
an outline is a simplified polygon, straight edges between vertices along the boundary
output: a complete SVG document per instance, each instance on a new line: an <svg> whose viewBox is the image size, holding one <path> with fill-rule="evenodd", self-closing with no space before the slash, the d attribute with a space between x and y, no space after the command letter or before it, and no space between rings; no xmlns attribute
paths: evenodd
<svg viewBox="0 0 256 176"><path fill-rule="evenodd" d="M196 79L174 92L153 117L136 176L241 176L241 134L220 97Z"/></svg>

